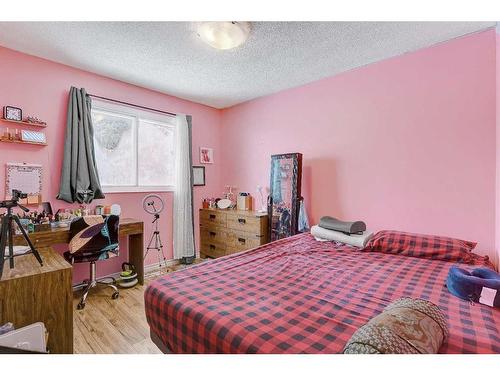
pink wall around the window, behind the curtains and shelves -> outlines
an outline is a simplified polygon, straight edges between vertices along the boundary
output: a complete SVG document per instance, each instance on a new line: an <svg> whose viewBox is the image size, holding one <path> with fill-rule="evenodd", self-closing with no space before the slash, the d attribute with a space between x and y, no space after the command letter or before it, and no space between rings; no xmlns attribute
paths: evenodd
<svg viewBox="0 0 500 375"><path fill-rule="evenodd" d="M143 89L110 78L74 69L65 65L43 60L0 47L0 106L15 105L23 109L25 115L35 115L48 123L45 131L47 147L0 143L0 199L4 197L6 162L39 163L44 167L43 196L50 200L53 208L65 207L65 203L55 199L59 189L62 165L63 140L66 123L68 92L71 86L85 87L89 93L137 103L165 111L186 113L193 116L193 158L198 160L200 146L213 147L219 152L220 111L181 100L155 91ZM5 123L2 124L1 130ZM207 186L195 188L195 219L200 201L205 196L214 196L221 191L219 179L220 163L207 165ZM145 221L145 240L149 240L150 217L143 213L143 193L107 194L103 204L119 203L123 217L134 217ZM167 214L162 217L161 235L166 245L168 258L172 258L172 194L162 193L167 202ZM77 205L74 205L77 207ZM63 251L61 247L59 249ZM126 244L122 244L121 256L100 262L100 275L118 271L126 259ZM151 254L147 264L157 261ZM74 281L88 275L86 264L75 265Z"/></svg>

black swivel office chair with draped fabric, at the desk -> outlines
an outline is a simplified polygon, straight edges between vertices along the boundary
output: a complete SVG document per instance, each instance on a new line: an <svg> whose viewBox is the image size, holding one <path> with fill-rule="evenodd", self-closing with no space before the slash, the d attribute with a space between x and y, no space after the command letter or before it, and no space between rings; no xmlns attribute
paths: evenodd
<svg viewBox="0 0 500 375"><path fill-rule="evenodd" d="M90 263L90 278L76 287L83 287L83 295L77 306L78 310L85 307L85 301L90 289L103 284L113 289L111 298L119 297L113 277L97 279L96 262L118 255L118 223L119 216L100 215L84 216L73 220L69 227L69 251L64 253L64 258L71 264ZM108 281L106 281L108 280Z"/></svg>

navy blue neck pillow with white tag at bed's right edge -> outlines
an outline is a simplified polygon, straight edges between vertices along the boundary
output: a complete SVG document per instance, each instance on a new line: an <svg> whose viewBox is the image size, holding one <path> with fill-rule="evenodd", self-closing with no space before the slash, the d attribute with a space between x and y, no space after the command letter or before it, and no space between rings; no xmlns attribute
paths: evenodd
<svg viewBox="0 0 500 375"><path fill-rule="evenodd" d="M500 274L489 268L469 272L453 266L448 272L446 286L461 299L500 307Z"/></svg>

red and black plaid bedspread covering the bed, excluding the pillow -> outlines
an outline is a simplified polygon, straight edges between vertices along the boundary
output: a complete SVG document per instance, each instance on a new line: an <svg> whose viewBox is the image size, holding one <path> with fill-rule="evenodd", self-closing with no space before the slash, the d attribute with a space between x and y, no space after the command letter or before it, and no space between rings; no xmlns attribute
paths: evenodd
<svg viewBox="0 0 500 375"><path fill-rule="evenodd" d="M450 294L453 264L301 234L152 282L146 317L174 353L339 353L357 328L410 296L444 312L440 352L500 353L500 309Z"/></svg>

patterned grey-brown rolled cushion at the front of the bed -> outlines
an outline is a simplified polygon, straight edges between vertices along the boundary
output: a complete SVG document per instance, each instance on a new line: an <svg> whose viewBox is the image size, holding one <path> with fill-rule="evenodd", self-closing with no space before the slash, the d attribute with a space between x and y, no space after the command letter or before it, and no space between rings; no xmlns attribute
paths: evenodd
<svg viewBox="0 0 500 375"><path fill-rule="evenodd" d="M448 335L446 319L436 305L400 298L360 327L345 354L432 354Z"/></svg>

